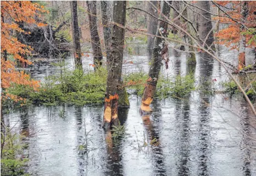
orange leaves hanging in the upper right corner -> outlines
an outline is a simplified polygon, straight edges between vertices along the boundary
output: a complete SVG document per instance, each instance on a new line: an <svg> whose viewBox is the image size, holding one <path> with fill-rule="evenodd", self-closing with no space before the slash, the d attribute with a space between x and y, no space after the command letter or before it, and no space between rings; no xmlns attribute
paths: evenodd
<svg viewBox="0 0 256 176"><path fill-rule="evenodd" d="M215 1L216 4L219 4L219 6L227 7L229 5L229 8L233 9L225 9L225 12L233 18L233 20L229 17L226 17L227 15L222 13L215 18L215 20L219 20L219 22L222 23L228 23L229 26L225 29L220 30L218 33L215 34L216 38L218 39L219 44L224 44L226 47L230 47L231 49L237 49L238 48L238 42L240 38L240 26L243 24L244 26L247 26L249 28L254 28L256 26L256 19L255 15L253 14L256 9L256 1L248 1L248 17L247 21L241 21L241 7L242 7L242 1ZM236 22L237 21L237 22ZM245 32L245 31L242 31ZM249 41L253 36L252 35L246 35L246 42ZM253 47L255 46L255 42L252 42L247 47Z"/></svg>

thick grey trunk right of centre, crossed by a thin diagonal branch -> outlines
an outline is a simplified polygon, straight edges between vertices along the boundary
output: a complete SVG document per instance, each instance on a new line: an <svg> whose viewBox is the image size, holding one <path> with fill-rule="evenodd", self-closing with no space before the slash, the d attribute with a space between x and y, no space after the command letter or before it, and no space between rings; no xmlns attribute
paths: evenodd
<svg viewBox="0 0 256 176"><path fill-rule="evenodd" d="M204 48L212 48L215 50L213 25L210 16L210 1L198 1L198 33Z"/></svg>

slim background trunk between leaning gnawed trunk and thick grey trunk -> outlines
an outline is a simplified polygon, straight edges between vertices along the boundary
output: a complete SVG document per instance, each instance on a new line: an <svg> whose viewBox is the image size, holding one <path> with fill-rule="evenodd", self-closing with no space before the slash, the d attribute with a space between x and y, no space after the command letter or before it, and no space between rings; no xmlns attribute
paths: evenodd
<svg viewBox="0 0 256 176"><path fill-rule="evenodd" d="M183 16L184 16L186 19L188 18L188 17L187 17L187 7L183 10ZM183 22L186 23L185 20L183 20ZM188 25L188 23L186 24L185 27L186 27L186 31L187 31L188 33L190 33L190 26ZM186 42L187 44L190 44L191 46L193 46L193 41L192 41L192 39L191 39L190 37L188 37L188 36L185 35L185 36L184 36L184 40L185 40L185 42ZM190 65L190 64L194 65L194 64L197 63L197 61L196 61L196 54L193 53L193 52L194 52L194 48L191 47L191 46L185 45L185 50L188 51L188 52L191 52L191 53L187 53L187 52L186 52L186 60L187 60L187 64L188 64L188 65Z"/></svg>

